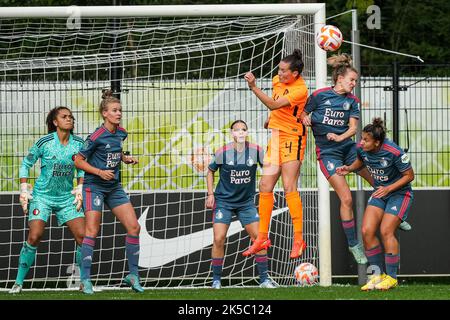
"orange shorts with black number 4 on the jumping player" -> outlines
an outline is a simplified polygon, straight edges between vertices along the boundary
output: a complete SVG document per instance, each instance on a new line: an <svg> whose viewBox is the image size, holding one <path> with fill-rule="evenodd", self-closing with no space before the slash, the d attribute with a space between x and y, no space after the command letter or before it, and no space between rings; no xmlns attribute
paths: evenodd
<svg viewBox="0 0 450 320"><path fill-rule="evenodd" d="M295 136L284 131L273 130L264 156L264 165L280 166L285 162L303 161L306 149L306 132Z"/></svg>

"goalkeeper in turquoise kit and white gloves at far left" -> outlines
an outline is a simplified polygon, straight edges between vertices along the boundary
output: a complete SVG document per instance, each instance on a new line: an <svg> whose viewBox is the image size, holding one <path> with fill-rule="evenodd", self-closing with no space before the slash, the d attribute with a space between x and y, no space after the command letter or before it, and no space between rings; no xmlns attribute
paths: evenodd
<svg viewBox="0 0 450 320"><path fill-rule="evenodd" d="M80 267L81 244L84 237L82 183L84 172L76 170L74 155L84 141L74 136L75 119L67 107L56 107L47 115L48 134L40 138L30 149L20 168L20 204L28 214L28 238L19 257L19 270L10 293L22 291L24 279L33 265L37 247L52 212L58 225L66 225L77 242L76 263ZM40 160L41 173L34 189L28 183L29 171ZM77 177L77 187L73 180ZM82 270L80 269L80 273Z"/></svg>

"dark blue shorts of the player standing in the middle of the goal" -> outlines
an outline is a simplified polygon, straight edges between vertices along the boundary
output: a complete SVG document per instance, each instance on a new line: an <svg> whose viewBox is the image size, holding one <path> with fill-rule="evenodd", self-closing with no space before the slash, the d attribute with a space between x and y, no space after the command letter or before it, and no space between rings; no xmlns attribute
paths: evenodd
<svg viewBox="0 0 450 320"><path fill-rule="evenodd" d="M216 206L213 209L213 223L230 225L231 218L234 214L238 217L243 227L259 221L258 210L256 210L256 207L253 204L230 209L216 202Z"/></svg>

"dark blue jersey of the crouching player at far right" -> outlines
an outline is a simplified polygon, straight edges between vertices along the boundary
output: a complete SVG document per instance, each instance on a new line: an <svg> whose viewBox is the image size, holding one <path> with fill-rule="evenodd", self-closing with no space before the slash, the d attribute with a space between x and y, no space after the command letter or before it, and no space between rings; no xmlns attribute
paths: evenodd
<svg viewBox="0 0 450 320"><path fill-rule="evenodd" d="M402 178L402 172L411 169L408 154L389 139L384 140L378 152L366 152L359 144L356 152L372 175L375 187L391 185ZM400 190L411 190L411 184Z"/></svg>

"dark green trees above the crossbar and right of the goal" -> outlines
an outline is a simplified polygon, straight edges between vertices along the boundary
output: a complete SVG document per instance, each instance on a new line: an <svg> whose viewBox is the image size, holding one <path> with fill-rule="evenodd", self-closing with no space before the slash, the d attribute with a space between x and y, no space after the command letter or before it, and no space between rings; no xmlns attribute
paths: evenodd
<svg viewBox="0 0 450 320"><path fill-rule="evenodd" d="M245 3L311 3L320 1L280 1L248 0ZM186 5L186 4L233 4L236 0L0 0L0 7L7 6L89 6L89 5ZM381 9L381 28L368 29L366 22L370 14L366 9L377 5ZM450 1L427 0L334 0L326 2L327 17L358 10L360 42L366 45L384 48L402 53L420 56L425 63L413 58L383 53L361 48L361 72L363 75L390 75L390 65L394 60L401 63L402 75L426 74L445 76L449 74L450 51ZM345 14L327 20L328 24L338 26L344 36L350 40L351 14ZM1 26L1 25L0 25ZM343 44L341 52L351 52L349 44ZM2 59L0 54L0 59ZM4 58L3 58L4 59Z"/></svg>

